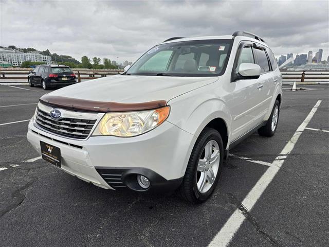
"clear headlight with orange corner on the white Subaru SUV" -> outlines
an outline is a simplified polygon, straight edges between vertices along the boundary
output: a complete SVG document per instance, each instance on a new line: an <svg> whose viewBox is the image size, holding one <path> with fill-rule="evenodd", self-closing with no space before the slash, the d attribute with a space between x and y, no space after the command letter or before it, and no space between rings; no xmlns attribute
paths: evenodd
<svg viewBox="0 0 329 247"><path fill-rule="evenodd" d="M151 111L106 113L93 132L95 135L130 137L159 126L169 115L170 107Z"/></svg>

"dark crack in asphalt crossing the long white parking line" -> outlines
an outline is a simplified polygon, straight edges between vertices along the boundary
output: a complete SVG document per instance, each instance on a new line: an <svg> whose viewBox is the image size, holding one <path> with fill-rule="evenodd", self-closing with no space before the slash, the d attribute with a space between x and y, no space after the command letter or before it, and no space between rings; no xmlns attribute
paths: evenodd
<svg viewBox="0 0 329 247"><path fill-rule="evenodd" d="M229 199L232 204L234 204L237 209L241 211L241 213L244 215L246 220L251 223L257 232L259 232L262 236L264 236L267 240L270 241L270 243L274 246L281 246L277 239L269 235L265 232L265 230L262 229L261 225L257 222L257 220L250 214L248 209L239 201L236 199L236 197L232 193L227 193L229 196Z"/></svg>

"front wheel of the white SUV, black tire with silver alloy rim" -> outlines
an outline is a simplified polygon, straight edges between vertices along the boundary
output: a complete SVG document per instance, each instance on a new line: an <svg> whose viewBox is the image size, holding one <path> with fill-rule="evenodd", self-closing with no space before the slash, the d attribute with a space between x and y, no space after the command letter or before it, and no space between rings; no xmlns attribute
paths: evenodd
<svg viewBox="0 0 329 247"><path fill-rule="evenodd" d="M206 155L207 151L205 148L210 147L210 144L211 152L208 151L208 154L210 153L211 155L209 156ZM213 163L208 163L206 156L210 157L209 161L215 161ZM193 147L183 181L177 189L178 196L192 204L205 202L211 196L218 183L223 165L223 157L224 148L221 134L214 129L205 128L197 138ZM202 164L202 166L199 163ZM212 177L212 180L208 177L208 175L211 174L210 170L213 171L212 174L214 178ZM206 179L203 180L203 178ZM202 186L202 181L205 181L204 186ZM213 181L212 184L209 183L210 181Z"/></svg>

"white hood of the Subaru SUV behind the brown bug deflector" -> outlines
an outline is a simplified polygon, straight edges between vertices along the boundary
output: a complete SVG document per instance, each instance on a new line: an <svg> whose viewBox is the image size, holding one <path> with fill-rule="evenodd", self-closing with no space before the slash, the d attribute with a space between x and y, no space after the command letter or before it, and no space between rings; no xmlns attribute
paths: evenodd
<svg viewBox="0 0 329 247"><path fill-rule="evenodd" d="M80 82L48 95L118 103L142 103L156 100L168 102L172 98L217 80L217 77L117 75Z"/></svg>

